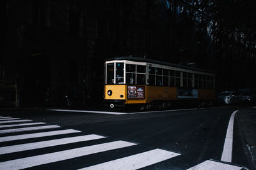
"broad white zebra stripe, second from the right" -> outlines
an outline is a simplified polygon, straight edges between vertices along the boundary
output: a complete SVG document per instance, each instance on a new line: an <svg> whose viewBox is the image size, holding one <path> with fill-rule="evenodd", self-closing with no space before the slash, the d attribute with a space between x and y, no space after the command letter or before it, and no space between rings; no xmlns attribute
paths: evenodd
<svg viewBox="0 0 256 170"><path fill-rule="evenodd" d="M111 160L95 166L85 167L83 169L140 169L163 160L171 159L172 157L176 157L178 155L180 154L155 149L148 152L138 153L136 155L131 155L129 157Z"/></svg>

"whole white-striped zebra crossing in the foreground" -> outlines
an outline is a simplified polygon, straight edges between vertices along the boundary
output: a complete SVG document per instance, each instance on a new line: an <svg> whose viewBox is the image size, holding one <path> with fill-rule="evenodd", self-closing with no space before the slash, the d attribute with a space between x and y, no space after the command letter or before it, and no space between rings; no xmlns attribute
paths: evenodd
<svg viewBox="0 0 256 170"><path fill-rule="evenodd" d="M6 120L8 119L8 120ZM11 119L11 120L10 120ZM15 121L15 122L13 122ZM17 122L21 121L21 122ZM18 134L17 134L18 133ZM20 134L21 133L21 134ZM64 137L63 137L64 136ZM54 139L52 139L54 137ZM47 138L47 139L45 139ZM36 141L31 142L31 139ZM105 141L104 141L105 139ZM52 163L68 161L79 157L86 157L103 152L116 152L118 149L132 148L138 143L131 141L107 141L107 136L99 134L83 134L74 129L64 129L59 125L47 125L45 122L33 122L21 118L0 116L0 168L1 169L24 169L36 166L47 166ZM29 142L29 141L30 142ZM100 141L102 140L102 141ZM86 142L90 142L87 144ZM79 145L77 145L79 143ZM65 147L72 145L72 147ZM143 144L141 144L143 145ZM47 151L37 150L53 146L64 146L61 150ZM24 157L10 157L18 152L29 152ZM29 152L31 153L31 152ZM178 157L180 153L170 152L159 148L145 152L134 153L114 160L107 160L91 166L79 167L78 169L140 169L159 162ZM1 160L1 158L5 158ZM189 169L243 169L240 166L224 164L214 160L206 160ZM73 168L72 168L73 169Z"/></svg>

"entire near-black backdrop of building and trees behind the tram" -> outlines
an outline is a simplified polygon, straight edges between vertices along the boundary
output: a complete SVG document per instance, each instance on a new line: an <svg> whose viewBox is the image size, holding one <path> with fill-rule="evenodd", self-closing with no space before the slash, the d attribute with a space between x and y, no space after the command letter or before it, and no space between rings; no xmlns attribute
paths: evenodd
<svg viewBox="0 0 256 170"><path fill-rule="evenodd" d="M14 86L20 107L45 106L47 88L47 106L65 93L74 106L101 102L104 60L130 55L213 71L217 92L254 89L255 9L241 0L1 1L0 100Z"/></svg>

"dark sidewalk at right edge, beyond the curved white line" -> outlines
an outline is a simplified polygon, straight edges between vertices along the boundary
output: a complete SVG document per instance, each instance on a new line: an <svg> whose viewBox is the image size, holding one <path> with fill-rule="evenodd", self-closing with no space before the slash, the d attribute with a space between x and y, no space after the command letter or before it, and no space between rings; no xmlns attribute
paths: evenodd
<svg viewBox="0 0 256 170"><path fill-rule="evenodd" d="M256 106L241 110L238 113L237 121L252 156L253 166L256 168Z"/></svg>

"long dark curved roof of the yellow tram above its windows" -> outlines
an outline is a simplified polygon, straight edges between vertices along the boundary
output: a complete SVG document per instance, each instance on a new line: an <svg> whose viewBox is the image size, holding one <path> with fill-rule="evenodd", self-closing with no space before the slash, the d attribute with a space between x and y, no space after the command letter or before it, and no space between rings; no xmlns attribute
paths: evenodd
<svg viewBox="0 0 256 170"><path fill-rule="evenodd" d="M170 62L163 62L163 61L159 61L159 60L152 60L152 59L145 59L142 57L114 57L114 58L110 58L110 59L106 59L106 61L110 61L110 60L133 60L133 61L138 61L138 62L150 62L153 64L161 64L164 66L172 66L172 67L179 67L179 68L183 68L183 69L190 69L190 70L195 70L195 71L202 71L202 72L206 72L206 73L212 73L212 71L206 71L204 69L198 69L195 67L189 67L189 66L182 66L180 64L173 64Z"/></svg>

